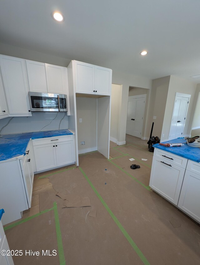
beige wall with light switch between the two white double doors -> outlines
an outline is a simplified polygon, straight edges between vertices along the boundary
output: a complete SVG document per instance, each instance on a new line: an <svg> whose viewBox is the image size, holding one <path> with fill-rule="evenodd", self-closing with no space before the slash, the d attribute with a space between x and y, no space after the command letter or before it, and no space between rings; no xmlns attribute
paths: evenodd
<svg viewBox="0 0 200 265"><path fill-rule="evenodd" d="M168 96L170 76L154 79L149 95L149 110L145 128L145 137L149 138L152 123L154 122L153 135L161 137L163 119ZM153 119L156 116L156 119Z"/></svg>

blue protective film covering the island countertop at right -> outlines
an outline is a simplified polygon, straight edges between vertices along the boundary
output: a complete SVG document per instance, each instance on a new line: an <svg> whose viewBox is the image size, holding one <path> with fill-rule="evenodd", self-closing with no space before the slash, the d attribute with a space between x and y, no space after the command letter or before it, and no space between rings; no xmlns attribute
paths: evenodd
<svg viewBox="0 0 200 265"><path fill-rule="evenodd" d="M173 153L177 156L185 157L189 160L200 163L200 148L188 146L184 138L177 138L177 139L169 140L163 143L182 143L184 145L180 147L165 147L157 143L153 145L153 147L156 147L166 152Z"/></svg>

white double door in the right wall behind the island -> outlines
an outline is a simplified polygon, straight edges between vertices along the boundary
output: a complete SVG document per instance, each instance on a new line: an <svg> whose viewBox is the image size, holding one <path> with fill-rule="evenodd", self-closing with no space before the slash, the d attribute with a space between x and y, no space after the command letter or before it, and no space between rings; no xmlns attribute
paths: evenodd
<svg viewBox="0 0 200 265"><path fill-rule="evenodd" d="M183 129L187 115L189 97L176 96L169 140L183 136Z"/></svg>

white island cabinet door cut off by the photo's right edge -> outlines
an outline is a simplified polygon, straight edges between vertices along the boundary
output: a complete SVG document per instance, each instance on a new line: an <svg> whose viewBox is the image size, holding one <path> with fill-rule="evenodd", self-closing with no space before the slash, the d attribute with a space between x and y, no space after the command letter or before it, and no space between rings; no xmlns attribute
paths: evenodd
<svg viewBox="0 0 200 265"><path fill-rule="evenodd" d="M200 175L185 171L178 207L200 222Z"/></svg>

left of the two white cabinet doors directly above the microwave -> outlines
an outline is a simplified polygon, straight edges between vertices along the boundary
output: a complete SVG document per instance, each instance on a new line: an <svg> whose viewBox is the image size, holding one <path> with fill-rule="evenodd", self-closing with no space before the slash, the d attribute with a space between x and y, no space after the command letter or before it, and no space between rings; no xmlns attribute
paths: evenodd
<svg viewBox="0 0 200 265"><path fill-rule="evenodd" d="M26 60L26 67L30 91L47 93L45 64Z"/></svg>

